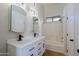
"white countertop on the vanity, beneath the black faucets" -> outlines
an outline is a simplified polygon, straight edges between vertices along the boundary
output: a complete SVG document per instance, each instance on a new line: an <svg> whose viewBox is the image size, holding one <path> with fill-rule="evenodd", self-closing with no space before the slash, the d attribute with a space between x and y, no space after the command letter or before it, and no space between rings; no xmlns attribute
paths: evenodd
<svg viewBox="0 0 79 59"><path fill-rule="evenodd" d="M38 37L26 37L23 38L22 41L17 41L17 39L10 39L7 41L7 44L10 44L12 46L18 47L18 48L22 48L24 46L30 45L33 42L36 42L38 40L43 40L44 36L38 36Z"/></svg>

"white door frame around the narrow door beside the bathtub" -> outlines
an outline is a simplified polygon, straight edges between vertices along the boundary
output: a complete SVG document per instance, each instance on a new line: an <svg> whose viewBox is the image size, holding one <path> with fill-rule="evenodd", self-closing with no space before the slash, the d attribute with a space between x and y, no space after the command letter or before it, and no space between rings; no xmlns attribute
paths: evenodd
<svg viewBox="0 0 79 59"><path fill-rule="evenodd" d="M63 11L63 39L64 39L64 54L65 55L69 55L68 54L68 44L69 43L68 43L68 39L67 39L67 35L68 35L68 33L67 33L67 20L68 20L67 7L69 5L74 7L74 4L68 4L68 5L65 6L64 11ZM74 28L74 43L73 43L73 47L75 48L75 28ZM75 49L73 50L73 52L74 52L73 55L75 55Z"/></svg>

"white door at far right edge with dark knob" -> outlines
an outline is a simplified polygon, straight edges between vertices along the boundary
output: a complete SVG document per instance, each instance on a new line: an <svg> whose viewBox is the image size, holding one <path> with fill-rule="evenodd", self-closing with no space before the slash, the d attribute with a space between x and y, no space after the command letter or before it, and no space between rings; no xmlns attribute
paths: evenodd
<svg viewBox="0 0 79 59"><path fill-rule="evenodd" d="M79 4L75 4L75 55L79 56Z"/></svg>

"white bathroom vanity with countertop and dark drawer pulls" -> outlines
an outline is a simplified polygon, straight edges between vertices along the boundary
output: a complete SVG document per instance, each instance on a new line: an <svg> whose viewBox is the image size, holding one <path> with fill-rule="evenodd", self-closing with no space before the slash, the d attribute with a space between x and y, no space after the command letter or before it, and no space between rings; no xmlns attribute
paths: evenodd
<svg viewBox="0 0 79 59"><path fill-rule="evenodd" d="M23 38L22 41L15 39L8 40L9 56L42 56L44 47L44 37Z"/></svg>

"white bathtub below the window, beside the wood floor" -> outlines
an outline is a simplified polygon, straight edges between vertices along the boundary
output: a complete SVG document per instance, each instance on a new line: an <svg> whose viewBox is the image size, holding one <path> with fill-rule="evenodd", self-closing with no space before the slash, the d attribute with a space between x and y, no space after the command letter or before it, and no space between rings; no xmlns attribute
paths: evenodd
<svg viewBox="0 0 79 59"><path fill-rule="evenodd" d="M57 41L45 41L45 47L48 50L64 53L64 43Z"/></svg>

